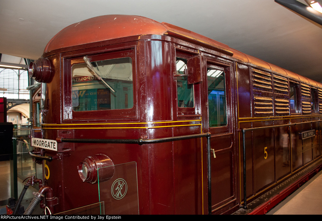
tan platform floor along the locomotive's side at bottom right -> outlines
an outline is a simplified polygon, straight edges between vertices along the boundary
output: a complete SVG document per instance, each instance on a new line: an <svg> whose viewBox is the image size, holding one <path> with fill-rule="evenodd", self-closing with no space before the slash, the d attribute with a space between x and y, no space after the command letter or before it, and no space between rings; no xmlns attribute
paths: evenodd
<svg viewBox="0 0 322 221"><path fill-rule="evenodd" d="M322 171L271 209L267 215L322 215Z"/></svg>

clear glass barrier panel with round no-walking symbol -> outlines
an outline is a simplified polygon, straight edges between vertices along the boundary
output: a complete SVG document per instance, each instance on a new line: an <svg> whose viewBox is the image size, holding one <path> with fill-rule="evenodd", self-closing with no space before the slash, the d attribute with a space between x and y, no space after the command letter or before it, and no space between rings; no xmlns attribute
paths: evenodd
<svg viewBox="0 0 322 221"><path fill-rule="evenodd" d="M98 168L98 180L104 179L104 170L113 169L113 177L107 181L99 181L98 185L99 201L105 204L105 214L139 214L137 163Z"/></svg>

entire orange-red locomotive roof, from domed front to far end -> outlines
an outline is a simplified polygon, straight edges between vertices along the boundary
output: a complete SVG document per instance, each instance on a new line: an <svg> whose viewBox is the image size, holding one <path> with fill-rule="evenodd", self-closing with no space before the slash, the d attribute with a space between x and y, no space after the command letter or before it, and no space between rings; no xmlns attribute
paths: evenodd
<svg viewBox="0 0 322 221"><path fill-rule="evenodd" d="M240 51L230 48L228 45L214 41L213 39L207 38L203 35L172 24L164 22L159 23L152 19L136 15L102 15L72 24L58 32L48 42L44 53L81 44L144 34L166 34L179 37L187 41L197 42L198 44L208 46L243 62L252 63L257 66L276 71L290 78L322 87L322 84L319 82L305 78L289 70L282 69L253 56L246 55Z"/></svg>

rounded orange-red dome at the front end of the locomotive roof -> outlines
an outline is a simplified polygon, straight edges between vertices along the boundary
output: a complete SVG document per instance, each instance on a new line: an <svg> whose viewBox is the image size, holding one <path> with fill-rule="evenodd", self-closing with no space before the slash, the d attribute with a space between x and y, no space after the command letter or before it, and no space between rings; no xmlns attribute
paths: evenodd
<svg viewBox="0 0 322 221"><path fill-rule="evenodd" d="M102 15L67 26L47 44L44 53L86 43L142 34L163 35L167 31L161 23L136 15Z"/></svg>

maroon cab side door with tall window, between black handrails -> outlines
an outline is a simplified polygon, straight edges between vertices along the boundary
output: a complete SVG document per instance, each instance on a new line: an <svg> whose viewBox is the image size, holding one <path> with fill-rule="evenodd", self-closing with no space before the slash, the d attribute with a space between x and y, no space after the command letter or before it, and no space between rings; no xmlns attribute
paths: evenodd
<svg viewBox="0 0 322 221"><path fill-rule="evenodd" d="M209 131L211 136L211 189L212 211L221 214L235 205L234 189L234 134L232 108L232 63L206 58L207 84L204 84L207 100L203 116L203 132ZM207 88L205 88L207 87Z"/></svg>

